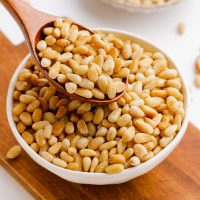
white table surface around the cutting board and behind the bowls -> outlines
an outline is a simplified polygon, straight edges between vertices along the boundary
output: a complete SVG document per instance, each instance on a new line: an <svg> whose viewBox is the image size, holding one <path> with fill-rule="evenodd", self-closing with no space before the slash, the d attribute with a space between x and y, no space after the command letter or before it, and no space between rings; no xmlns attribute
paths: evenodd
<svg viewBox="0 0 200 200"><path fill-rule="evenodd" d="M127 13L111 8L100 0L32 0L31 3L40 10L69 16L88 27L110 27L134 32L162 47L175 60L188 81L193 96L191 121L200 128L200 90L193 84L194 60L200 54L199 0L187 0L168 11L150 14ZM186 26L183 36L177 34L176 28L180 22ZM0 30L14 44L23 41L20 30L1 5ZM33 198L0 167L0 199Z"/></svg>

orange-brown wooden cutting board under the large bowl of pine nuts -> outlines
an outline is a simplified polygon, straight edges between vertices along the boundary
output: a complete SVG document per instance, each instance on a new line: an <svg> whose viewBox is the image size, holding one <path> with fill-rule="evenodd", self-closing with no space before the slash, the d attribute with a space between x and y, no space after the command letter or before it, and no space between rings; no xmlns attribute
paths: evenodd
<svg viewBox="0 0 200 200"><path fill-rule="evenodd" d="M27 52L25 44L15 47L0 33L0 164L36 199L200 199L200 131L192 124L178 148L161 165L124 184L92 186L70 183L38 166L25 152L16 160L7 161L6 152L17 142L6 118L6 94L15 68Z"/></svg>

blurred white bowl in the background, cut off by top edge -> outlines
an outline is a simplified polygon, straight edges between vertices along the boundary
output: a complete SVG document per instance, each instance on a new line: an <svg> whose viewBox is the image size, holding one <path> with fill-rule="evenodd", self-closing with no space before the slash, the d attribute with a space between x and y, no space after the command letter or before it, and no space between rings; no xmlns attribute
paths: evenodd
<svg viewBox="0 0 200 200"><path fill-rule="evenodd" d="M131 3L120 3L116 2L115 0L101 0L102 2L109 4L115 8L119 8L128 12L141 12L141 13L152 13L152 12L159 12L163 10L168 10L172 6L177 5L178 3L184 0L173 0L171 3L166 3L164 5L154 5L154 6L140 6L140 5L133 5Z"/></svg>

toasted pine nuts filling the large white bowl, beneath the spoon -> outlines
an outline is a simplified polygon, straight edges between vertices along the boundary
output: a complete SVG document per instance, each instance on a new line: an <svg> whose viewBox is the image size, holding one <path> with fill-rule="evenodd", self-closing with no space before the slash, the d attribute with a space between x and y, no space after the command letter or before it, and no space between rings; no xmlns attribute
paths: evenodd
<svg viewBox="0 0 200 200"><path fill-rule="evenodd" d="M31 59L27 62L13 93L13 119L42 158L69 170L119 173L148 161L173 140L185 114L179 74L162 53L131 45L128 89L104 106L67 98Z"/></svg>

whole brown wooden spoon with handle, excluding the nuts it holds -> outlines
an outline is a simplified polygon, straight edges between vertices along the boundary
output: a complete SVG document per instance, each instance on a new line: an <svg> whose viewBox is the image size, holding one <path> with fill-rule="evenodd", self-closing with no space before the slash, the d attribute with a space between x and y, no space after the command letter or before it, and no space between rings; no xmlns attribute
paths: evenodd
<svg viewBox="0 0 200 200"><path fill-rule="evenodd" d="M36 65L39 66L40 71L42 74L51 82L53 85L55 85L56 89L73 98L80 100L82 102L87 102L91 104L96 105L102 105L102 104L109 104L112 102L117 101L119 98L121 98L126 91L127 85L128 85L128 78L124 79L123 81L126 83L126 88L123 92L116 95L113 99L96 99L96 98L83 98L81 96L78 96L76 94L70 94L66 91L66 89L56 82L55 80L51 79L47 73L46 70L40 65L40 59L38 57L38 52L36 49L37 43L43 39L43 29L45 27L54 26L54 20L57 18L56 16L49 15L43 12L40 12L32 7L30 7L27 3L22 2L21 0L0 0L0 2L4 5L4 7L9 11L9 13L12 15L12 17L15 19L17 24L19 25L20 29L23 32L23 35L26 39L27 46L32 54L32 57L36 63ZM93 31L85 28L84 26L73 22L73 24L76 24L80 30L87 30L90 33L94 33Z"/></svg>

